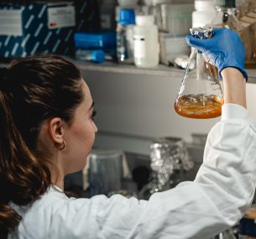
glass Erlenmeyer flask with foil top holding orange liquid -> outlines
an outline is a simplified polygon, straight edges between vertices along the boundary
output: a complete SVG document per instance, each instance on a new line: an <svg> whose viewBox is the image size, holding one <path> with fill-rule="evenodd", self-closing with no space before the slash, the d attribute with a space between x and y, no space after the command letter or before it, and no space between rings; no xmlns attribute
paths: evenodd
<svg viewBox="0 0 256 239"><path fill-rule="evenodd" d="M208 39L212 36L212 29L191 29L191 34ZM183 117L196 119L219 117L223 102L217 68L199 50L192 48L175 100L175 112Z"/></svg>

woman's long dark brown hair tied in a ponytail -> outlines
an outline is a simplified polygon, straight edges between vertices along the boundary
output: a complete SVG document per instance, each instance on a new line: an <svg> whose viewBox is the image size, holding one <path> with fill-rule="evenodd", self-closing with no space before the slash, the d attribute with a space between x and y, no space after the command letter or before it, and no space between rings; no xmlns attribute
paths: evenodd
<svg viewBox="0 0 256 239"><path fill-rule="evenodd" d="M9 203L28 205L51 184L50 162L39 152L41 123L53 117L71 122L82 99L80 71L60 56L13 60L0 70L0 235L4 238L21 220Z"/></svg>

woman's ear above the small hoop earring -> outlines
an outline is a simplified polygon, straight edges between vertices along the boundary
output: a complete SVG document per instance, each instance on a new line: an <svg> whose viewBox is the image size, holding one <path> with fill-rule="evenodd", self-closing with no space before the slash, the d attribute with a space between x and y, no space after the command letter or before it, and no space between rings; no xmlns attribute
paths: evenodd
<svg viewBox="0 0 256 239"><path fill-rule="evenodd" d="M60 117L52 118L49 122L50 138L54 143L60 144L64 141L64 124Z"/></svg>

